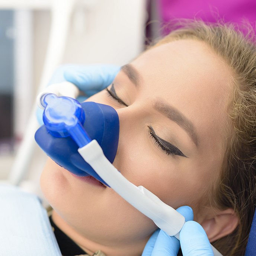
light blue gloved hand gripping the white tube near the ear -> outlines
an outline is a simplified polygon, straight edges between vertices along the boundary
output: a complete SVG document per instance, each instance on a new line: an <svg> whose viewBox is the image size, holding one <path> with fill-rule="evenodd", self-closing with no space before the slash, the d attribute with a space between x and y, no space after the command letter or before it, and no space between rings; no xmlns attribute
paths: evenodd
<svg viewBox="0 0 256 256"><path fill-rule="evenodd" d="M192 209L182 206L177 211L186 221L180 231L180 241L163 230L157 230L148 240L142 256L176 256L180 247L183 256L213 256L207 234L199 223L192 221Z"/></svg>

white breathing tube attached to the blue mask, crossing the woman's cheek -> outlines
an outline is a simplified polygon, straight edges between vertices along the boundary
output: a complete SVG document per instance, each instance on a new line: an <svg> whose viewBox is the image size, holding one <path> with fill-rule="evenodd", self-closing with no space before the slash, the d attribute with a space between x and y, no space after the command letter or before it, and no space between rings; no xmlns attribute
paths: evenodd
<svg viewBox="0 0 256 256"><path fill-rule="evenodd" d="M47 91L38 95L37 102L41 108L41 97L47 93L54 93L57 96L77 97L79 90L69 82L53 84L47 87ZM129 182L105 157L96 140L92 140L84 147L79 148L78 152L116 193L138 211L153 220L157 227L161 228L169 236L175 236L179 239L179 232L185 223L183 215L162 202L143 186L137 187ZM221 253L213 246L212 250L215 256L221 256Z"/></svg>

